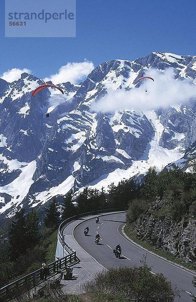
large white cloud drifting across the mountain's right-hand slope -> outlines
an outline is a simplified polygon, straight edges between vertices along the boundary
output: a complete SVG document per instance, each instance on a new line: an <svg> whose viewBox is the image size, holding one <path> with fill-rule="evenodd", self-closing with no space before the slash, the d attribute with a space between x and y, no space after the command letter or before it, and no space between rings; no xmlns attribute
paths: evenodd
<svg viewBox="0 0 196 302"><path fill-rule="evenodd" d="M195 85L192 85L191 81L187 79L175 80L172 68L168 68L164 72L149 69L145 75L152 77L154 82L142 80L139 88L130 91L110 90L101 100L92 104L91 110L104 112L121 109L151 110L177 105L196 97Z"/></svg>

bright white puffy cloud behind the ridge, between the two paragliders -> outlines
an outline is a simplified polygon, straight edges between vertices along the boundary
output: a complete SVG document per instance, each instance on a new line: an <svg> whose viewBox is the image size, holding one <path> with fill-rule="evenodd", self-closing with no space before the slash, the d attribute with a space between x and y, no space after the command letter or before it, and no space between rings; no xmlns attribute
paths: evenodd
<svg viewBox="0 0 196 302"><path fill-rule="evenodd" d="M44 81L52 81L54 84L65 82L78 84L93 68L93 63L87 60L84 60L84 62L67 63L61 66L57 73L52 74L49 78L44 79Z"/></svg>

